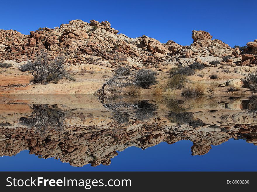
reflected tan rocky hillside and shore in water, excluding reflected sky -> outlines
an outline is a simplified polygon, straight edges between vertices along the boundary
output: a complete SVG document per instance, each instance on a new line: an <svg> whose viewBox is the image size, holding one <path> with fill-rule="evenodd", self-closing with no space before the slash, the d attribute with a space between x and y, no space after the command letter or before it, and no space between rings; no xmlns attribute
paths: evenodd
<svg viewBox="0 0 257 192"><path fill-rule="evenodd" d="M84 97L1 97L0 156L29 150L81 167L109 165L117 151L160 142L190 140L192 155L229 139L257 145L256 98Z"/></svg>

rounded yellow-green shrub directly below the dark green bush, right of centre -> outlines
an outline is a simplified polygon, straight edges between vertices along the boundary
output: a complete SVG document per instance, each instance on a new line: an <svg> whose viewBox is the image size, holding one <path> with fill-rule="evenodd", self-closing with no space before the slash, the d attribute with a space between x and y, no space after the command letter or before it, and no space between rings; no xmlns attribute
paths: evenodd
<svg viewBox="0 0 257 192"><path fill-rule="evenodd" d="M186 75L176 74L169 78L167 82L167 88L169 89L181 89L185 87L188 78Z"/></svg>

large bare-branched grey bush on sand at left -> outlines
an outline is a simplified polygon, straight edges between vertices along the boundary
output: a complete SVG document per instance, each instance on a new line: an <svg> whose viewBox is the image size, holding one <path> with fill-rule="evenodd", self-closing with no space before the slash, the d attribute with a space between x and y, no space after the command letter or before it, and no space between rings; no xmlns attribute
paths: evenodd
<svg viewBox="0 0 257 192"><path fill-rule="evenodd" d="M64 66L64 57L57 56L51 60L44 49L37 55L32 75L35 82L47 84L50 81L58 82L67 77Z"/></svg>

